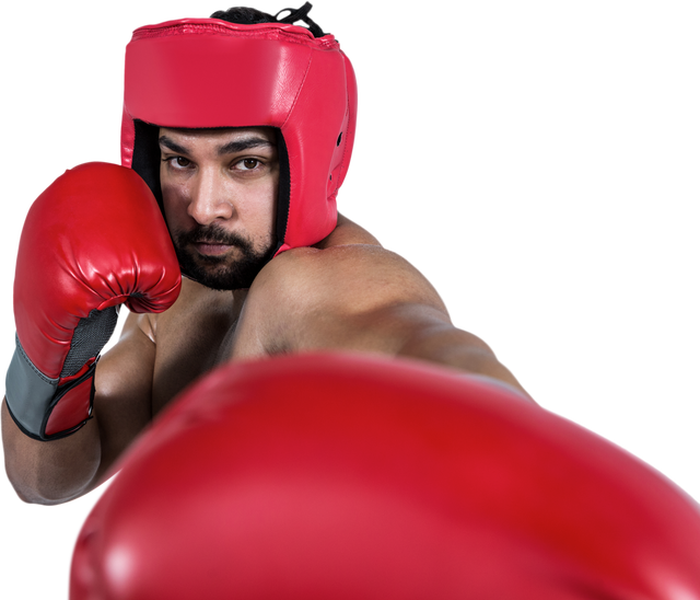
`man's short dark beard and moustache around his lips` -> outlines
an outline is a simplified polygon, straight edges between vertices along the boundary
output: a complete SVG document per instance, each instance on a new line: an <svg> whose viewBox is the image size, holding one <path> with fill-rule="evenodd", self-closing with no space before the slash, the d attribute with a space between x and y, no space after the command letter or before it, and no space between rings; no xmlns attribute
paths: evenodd
<svg viewBox="0 0 700 600"><path fill-rule="evenodd" d="M171 238L183 275L217 291L249 288L277 252L277 235L271 236L262 251L255 252L249 240L212 227L198 227L191 231L171 234ZM199 254L192 245L203 240L235 249L223 256L207 256ZM233 258L232 253L238 256Z"/></svg>

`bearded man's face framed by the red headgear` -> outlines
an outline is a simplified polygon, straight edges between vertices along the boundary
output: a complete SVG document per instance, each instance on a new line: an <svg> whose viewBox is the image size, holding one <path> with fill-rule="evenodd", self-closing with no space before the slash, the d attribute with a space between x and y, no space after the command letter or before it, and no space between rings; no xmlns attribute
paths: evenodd
<svg viewBox="0 0 700 600"><path fill-rule="evenodd" d="M277 247L279 161L269 127L161 127L165 219L185 275L249 288Z"/></svg>

